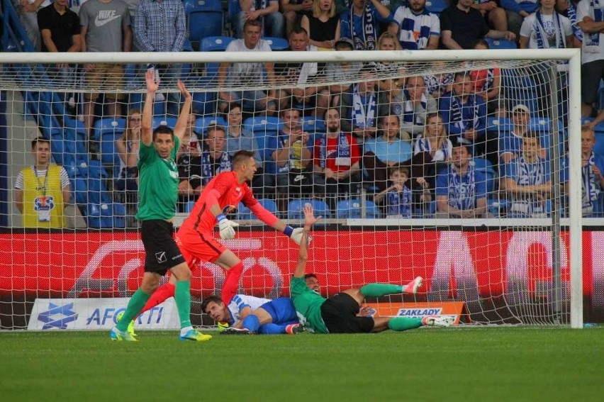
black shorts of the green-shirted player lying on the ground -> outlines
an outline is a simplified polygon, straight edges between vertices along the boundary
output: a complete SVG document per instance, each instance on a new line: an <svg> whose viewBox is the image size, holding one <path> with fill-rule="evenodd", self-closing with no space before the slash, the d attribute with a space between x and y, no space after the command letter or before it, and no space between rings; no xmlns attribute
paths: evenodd
<svg viewBox="0 0 604 402"><path fill-rule="evenodd" d="M358 317L359 303L349 294L339 293L321 305L321 316L333 334L370 333L374 330L372 317Z"/></svg>

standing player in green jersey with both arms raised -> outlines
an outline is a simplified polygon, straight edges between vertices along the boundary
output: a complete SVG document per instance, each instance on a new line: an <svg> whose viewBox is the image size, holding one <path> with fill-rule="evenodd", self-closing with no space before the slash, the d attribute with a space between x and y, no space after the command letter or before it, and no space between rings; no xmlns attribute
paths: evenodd
<svg viewBox="0 0 604 402"><path fill-rule="evenodd" d="M160 279L169 270L175 281L174 300L180 318L180 340L210 340L211 335L199 333L191 326L191 270L174 241L172 218L177 206L178 169L175 162L180 140L186 130L186 121L191 110L191 94L179 81L184 106L174 130L166 125L152 130L152 109L155 92L160 86L155 81L155 72L150 69L145 75L147 97L142 110L140 130L139 199L136 218L141 221L140 237L145 246L145 274L138 290L128 302L123 316L111 330L112 340L137 340L128 331L130 322L138 316L149 300Z"/></svg>

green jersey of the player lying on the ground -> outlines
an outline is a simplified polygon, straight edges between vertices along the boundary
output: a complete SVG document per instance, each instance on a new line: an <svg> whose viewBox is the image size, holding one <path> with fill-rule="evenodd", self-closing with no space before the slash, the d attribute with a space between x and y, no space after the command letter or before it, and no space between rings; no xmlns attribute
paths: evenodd
<svg viewBox="0 0 604 402"><path fill-rule="evenodd" d="M321 306L325 303L325 298L308 288L304 278L291 278L289 286L291 301L293 301L293 306L296 307L298 319L304 329L309 333L328 333L329 331L325 327L321 316Z"/></svg>

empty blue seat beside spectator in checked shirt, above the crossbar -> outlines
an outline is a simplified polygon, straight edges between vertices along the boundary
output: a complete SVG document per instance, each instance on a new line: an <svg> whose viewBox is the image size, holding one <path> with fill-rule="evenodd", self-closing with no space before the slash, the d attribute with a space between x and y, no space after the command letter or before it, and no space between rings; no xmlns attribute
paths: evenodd
<svg viewBox="0 0 604 402"><path fill-rule="evenodd" d="M220 0L184 0L189 40L194 47L203 38L223 33L223 8Z"/></svg>

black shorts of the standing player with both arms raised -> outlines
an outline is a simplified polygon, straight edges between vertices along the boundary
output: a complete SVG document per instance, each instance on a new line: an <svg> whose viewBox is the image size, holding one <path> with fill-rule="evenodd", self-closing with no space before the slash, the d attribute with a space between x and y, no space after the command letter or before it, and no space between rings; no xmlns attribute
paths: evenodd
<svg viewBox="0 0 604 402"><path fill-rule="evenodd" d="M162 219L143 220L140 238L145 246L145 272L165 275L168 269L185 262L174 242L172 222Z"/></svg>

